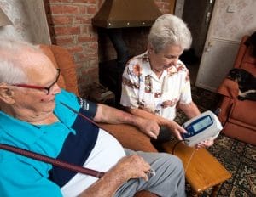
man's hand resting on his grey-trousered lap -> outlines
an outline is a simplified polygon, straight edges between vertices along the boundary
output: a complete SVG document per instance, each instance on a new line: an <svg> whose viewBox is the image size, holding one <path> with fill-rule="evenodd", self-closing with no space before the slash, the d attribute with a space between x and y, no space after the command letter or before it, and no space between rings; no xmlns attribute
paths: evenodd
<svg viewBox="0 0 256 197"><path fill-rule="evenodd" d="M150 165L139 155L125 156L113 167L116 176L123 176L126 181L131 178L143 178L148 181L149 170Z"/></svg>

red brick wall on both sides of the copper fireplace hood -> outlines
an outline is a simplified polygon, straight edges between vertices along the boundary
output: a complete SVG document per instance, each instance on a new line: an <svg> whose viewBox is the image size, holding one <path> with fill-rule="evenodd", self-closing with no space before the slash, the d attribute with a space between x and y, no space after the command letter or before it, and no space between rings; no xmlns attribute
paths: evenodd
<svg viewBox="0 0 256 197"><path fill-rule="evenodd" d="M72 53L82 95L90 83L98 81L98 35L91 25L91 18L103 1L44 0L52 41ZM154 1L162 13L170 12L169 0Z"/></svg>

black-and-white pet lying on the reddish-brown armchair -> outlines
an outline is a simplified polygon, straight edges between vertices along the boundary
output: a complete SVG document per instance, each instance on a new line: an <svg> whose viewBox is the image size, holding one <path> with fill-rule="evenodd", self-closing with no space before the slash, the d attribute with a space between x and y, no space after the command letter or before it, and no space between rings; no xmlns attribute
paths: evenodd
<svg viewBox="0 0 256 197"><path fill-rule="evenodd" d="M244 69L232 69L227 76L229 79L238 83L239 100L256 101L256 77Z"/></svg>

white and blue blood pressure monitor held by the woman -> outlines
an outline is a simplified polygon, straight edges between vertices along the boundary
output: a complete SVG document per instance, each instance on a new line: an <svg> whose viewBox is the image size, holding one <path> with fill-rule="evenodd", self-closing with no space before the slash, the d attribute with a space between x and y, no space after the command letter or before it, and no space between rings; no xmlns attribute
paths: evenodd
<svg viewBox="0 0 256 197"><path fill-rule="evenodd" d="M218 117L210 110L186 121L183 127L187 133L183 133L182 136L189 146L194 146L209 138L217 138L219 132L223 129Z"/></svg>

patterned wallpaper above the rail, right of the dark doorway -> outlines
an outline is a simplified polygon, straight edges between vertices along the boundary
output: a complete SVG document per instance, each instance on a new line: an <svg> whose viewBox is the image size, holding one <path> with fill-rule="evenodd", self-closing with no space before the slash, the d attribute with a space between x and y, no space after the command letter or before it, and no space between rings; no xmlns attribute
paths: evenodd
<svg viewBox="0 0 256 197"><path fill-rule="evenodd" d="M221 0L217 10L213 37L240 42L256 31L256 0Z"/></svg>

